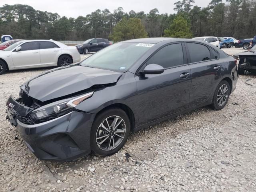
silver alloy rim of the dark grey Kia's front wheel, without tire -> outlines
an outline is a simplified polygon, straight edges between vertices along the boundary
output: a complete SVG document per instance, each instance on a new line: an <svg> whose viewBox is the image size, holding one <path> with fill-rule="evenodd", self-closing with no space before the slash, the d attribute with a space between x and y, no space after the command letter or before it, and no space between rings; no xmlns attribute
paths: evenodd
<svg viewBox="0 0 256 192"><path fill-rule="evenodd" d="M110 151L120 145L124 139L126 125L120 116L109 116L98 126L96 143L104 151Z"/></svg>

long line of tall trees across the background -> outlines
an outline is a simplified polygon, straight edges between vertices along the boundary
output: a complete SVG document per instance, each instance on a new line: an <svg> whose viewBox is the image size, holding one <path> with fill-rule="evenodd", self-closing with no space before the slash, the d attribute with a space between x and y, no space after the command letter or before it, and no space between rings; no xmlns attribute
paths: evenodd
<svg viewBox="0 0 256 192"><path fill-rule="evenodd" d="M140 37L256 35L255 0L212 0L208 6L194 6L195 0L174 3L174 14L160 14L157 8L124 12L97 9L78 18L35 10L23 4L0 7L0 34L16 39L86 40L94 37L120 41ZM171 10L170 10L171 11Z"/></svg>

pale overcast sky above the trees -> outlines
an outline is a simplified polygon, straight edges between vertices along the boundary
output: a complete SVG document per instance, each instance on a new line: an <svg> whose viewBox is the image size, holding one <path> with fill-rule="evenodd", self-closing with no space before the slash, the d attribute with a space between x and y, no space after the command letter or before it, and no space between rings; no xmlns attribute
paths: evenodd
<svg viewBox="0 0 256 192"><path fill-rule="evenodd" d="M175 13L174 2L178 0L0 0L0 6L4 4L27 4L35 10L58 13L60 16L77 18L86 16L96 9L114 9L122 7L124 12L134 10L148 13L154 8L158 8L159 13ZM197 6L205 7L211 0L195 0Z"/></svg>

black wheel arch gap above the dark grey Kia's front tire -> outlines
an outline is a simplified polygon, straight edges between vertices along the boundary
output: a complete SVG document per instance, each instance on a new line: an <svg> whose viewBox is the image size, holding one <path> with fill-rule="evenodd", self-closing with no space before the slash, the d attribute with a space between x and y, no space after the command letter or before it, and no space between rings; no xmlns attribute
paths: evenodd
<svg viewBox="0 0 256 192"><path fill-rule="evenodd" d="M96 116L98 116L98 114L100 114L103 111L108 110L110 108L120 108L120 109L124 110L124 112L127 114L128 118L130 120L131 131L134 132L134 128L135 128L134 113L132 112L132 109L129 106L127 106L126 104L123 104L123 103L110 104L110 105L102 108L100 111L98 111Z"/></svg>

